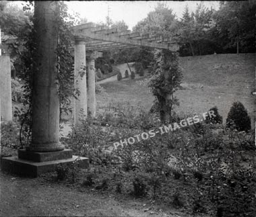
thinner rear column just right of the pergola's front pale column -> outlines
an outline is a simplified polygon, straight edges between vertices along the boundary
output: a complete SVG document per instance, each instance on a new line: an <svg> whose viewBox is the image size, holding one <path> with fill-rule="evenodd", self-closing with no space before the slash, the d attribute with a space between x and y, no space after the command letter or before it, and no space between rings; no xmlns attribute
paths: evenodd
<svg viewBox="0 0 256 217"><path fill-rule="evenodd" d="M88 114L96 116L96 97L95 97L95 56L92 54L88 61Z"/></svg>

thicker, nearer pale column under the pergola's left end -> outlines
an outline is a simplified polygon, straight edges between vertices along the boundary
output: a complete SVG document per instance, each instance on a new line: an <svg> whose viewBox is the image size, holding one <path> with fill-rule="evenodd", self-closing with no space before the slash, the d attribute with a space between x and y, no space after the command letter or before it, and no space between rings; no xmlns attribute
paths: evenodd
<svg viewBox="0 0 256 217"><path fill-rule="evenodd" d="M75 39L75 89L79 91L74 103L74 124L87 116L86 42Z"/></svg>

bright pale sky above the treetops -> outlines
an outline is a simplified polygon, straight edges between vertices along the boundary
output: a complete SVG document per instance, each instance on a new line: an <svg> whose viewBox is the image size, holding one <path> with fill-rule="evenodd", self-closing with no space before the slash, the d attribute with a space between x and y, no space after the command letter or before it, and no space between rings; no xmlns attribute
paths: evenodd
<svg viewBox="0 0 256 217"><path fill-rule="evenodd" d="M197 4L203 3L205 7L218 9L219 1L65 1L69 12L79 13L80 17L86 17L88 21L100 23L106 21L108 15L113 21L125 21L129 30L138 21L147 17L150 11L154 11L158 2L166 3L176 13L178 19L188 5L189 12L195 11ZM13 1L15 5L22 7L22 1Z"/></svg>

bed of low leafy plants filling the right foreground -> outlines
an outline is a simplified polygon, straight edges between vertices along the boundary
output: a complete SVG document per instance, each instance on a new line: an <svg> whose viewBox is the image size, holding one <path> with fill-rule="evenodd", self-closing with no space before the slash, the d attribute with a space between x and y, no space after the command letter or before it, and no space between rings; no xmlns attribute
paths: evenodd
<svg viewBox="0 0 256 217"><path fill-rule="evenodd" d="M201 123L112 150L113 142L159 126L155 114L118 105L74 128L68 143L92 164L80 173L82 187L152 198L191 214L254 216L254 134Z"/></svg>

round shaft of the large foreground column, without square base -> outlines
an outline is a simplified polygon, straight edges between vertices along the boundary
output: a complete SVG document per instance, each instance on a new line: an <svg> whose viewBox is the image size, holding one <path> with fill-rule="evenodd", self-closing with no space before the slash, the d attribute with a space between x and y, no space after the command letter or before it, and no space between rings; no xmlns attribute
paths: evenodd
<svg viewBox="0 0 256 217"><path fill-rule="evenodd" d="M35 2L36 52L32 91L32 142L26 150L63 150L59 142L59 81L57 71L58 3Z"/></svg>

